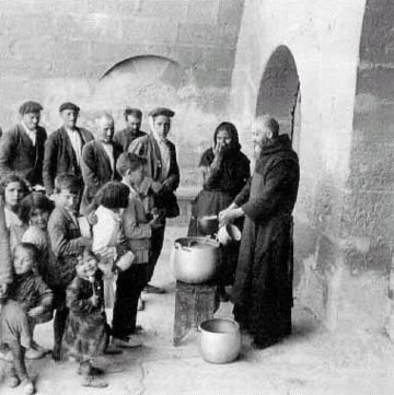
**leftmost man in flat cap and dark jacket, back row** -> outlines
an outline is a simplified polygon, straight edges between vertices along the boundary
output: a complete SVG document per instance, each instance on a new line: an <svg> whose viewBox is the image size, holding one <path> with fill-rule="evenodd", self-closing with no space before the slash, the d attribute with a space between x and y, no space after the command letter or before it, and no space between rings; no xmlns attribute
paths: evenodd
<svg viewBox="0 0 394 395"><path fill-rule="evenodd" d="M21 121L0 140L0 175L16 172L32 186L43 185L44 143L47 133L38 126L43 106L25 102L20 107Z"/></svg>

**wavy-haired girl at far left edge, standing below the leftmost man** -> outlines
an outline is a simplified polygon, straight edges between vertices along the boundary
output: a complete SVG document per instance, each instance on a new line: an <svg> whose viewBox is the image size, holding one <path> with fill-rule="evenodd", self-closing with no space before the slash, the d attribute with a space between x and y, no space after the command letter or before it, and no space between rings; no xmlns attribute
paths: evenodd
<svg viewBox="0 0 394 395"><path fill-rule="evenodd" d="M19 217L21 201L28 191L27 184L18 174L10 173L1 179L0 187L1 193L4 195L4 216L10 235L10 248L13 251L27 229L27 224L23 223Z"/></svg>

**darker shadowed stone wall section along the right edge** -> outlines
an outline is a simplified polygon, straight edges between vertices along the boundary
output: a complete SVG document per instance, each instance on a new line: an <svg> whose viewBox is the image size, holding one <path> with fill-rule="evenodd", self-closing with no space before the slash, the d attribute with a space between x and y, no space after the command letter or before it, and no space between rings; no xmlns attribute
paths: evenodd
<svg viewBox="0 0 394 395"><path fill-rule="evenodd" d="M351 141L346 229L361 248L347 254L354 277L375 278L374 292L389 300L389 272L394 240L394 4L368 0L360 39L360 62ZM393 300L392 271L391 293ZM367 293L368 295L369 293ZM394 336L394 303L391 325ZM387 311L382 305L383 311Z"/></svg>

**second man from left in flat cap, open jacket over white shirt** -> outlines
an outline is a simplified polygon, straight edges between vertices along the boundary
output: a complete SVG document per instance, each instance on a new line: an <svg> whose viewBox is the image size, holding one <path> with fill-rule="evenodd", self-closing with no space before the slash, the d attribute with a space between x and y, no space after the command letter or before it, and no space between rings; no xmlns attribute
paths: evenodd
<svg viewBox="0 0 394 395"><path fill-rule="evenodd" d="M94 137L89 130L77 126L79 112L78 105L62 103L59 107L62 126L45 142L43 178L48 196L54 193L54 182L58 174L71 173L82 181L82 149Z"/></svg>

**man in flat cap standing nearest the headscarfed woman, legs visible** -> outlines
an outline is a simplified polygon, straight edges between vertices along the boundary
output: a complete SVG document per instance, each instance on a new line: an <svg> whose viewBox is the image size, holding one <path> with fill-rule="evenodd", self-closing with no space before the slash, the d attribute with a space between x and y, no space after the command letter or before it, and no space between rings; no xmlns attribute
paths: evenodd
<svg viewBox="0 0 394 395"><path fill-rule="evenodd" d="M163 247L165 218L179 214L174 194L179 185L179 167L176 162L175 146L166 138L174 115L172 109L165 107L151 111L149 113L151 133L134 140L129 147L129 152L147 159L144 184L154 193L154 207L163 212L163 226L152 230L148 282L152 278ZM148 283L146 292L163 293L164 290Z"/></svg>

